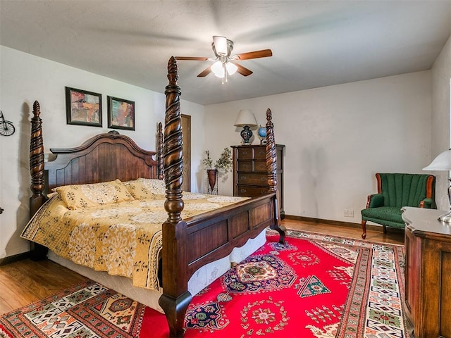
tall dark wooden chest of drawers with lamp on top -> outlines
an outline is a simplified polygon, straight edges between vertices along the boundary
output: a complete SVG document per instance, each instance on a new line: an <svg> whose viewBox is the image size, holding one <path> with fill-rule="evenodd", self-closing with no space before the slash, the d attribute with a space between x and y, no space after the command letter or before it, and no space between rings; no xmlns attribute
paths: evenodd
<svg viewBox="0 0 451 338"><path fill-rule="evenodd" d="M283 144L276 144L277 154L277 199L280 218L283 211ZM268 192L266 171L266 145L250 144L232 146L233 149L233 196L260 196Z"/></svg>

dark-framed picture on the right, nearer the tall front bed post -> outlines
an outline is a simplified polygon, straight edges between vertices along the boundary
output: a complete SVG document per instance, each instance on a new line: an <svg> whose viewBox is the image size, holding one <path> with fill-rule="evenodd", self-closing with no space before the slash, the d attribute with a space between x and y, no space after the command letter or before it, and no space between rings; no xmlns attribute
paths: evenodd
<svg viewBox="0 0 451 338"><path fill-rule="evenodd" d="M108 96L108 127L135 130L135 102Z"/></svg>

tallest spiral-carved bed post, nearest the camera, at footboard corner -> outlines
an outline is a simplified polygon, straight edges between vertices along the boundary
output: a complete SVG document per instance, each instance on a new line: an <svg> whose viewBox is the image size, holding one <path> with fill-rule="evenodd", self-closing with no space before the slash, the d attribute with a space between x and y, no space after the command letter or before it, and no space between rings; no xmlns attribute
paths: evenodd
<svg viewBox="0 0 451 338"><path fill-rule="evenodd" d="M166 117L164 126L164 179L168 220L163 223L163 294L159 304L169 324L171 337L183 337L183 321L192 295L187 291L187 234L183 211L183 135L180 117L180 87L174 57L168 62Z"/></svg>

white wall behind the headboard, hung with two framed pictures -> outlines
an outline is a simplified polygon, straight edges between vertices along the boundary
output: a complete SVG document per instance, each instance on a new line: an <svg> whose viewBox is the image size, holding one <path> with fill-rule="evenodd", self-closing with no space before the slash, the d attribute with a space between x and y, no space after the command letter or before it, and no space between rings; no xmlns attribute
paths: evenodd
<svg viewBox="0 0 451 338"><path fill-rule="evenodd" d="M135 131L118 130L144 149L155 150L156 124L164 123L165 96L161 93L101 77L61 63L0 46L0 109L11 120L16 133L0 136L0 258L29 250L19 234L27 223L30 192L30 118L35 100L41 106L44 148L79 146L85 139L108 132L106 96L135 101ZM104 127L66 124L64 87L102 94ZM181 111L192 116L192 186L197 182L197 163L204 148L204 106L181 101Z"/></svg>

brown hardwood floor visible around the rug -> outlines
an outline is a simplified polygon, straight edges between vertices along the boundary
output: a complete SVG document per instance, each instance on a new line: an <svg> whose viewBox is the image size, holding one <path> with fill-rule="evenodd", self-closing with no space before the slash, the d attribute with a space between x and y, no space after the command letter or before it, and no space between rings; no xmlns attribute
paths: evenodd
<svg viewBox="0 0 451 338"><path fill-rule="evenodd" d="M283 220L282 224L288 229L362 239L360 227L288 219ZM366 240L369 242L404 244L404 232L388 231L387 234L383 234L382 228L380 231L367 230ZM51 296L51 294L84 280L87 280L87 278L51 261L35 262L25 259L0 265L0 315Z"/></svg>

